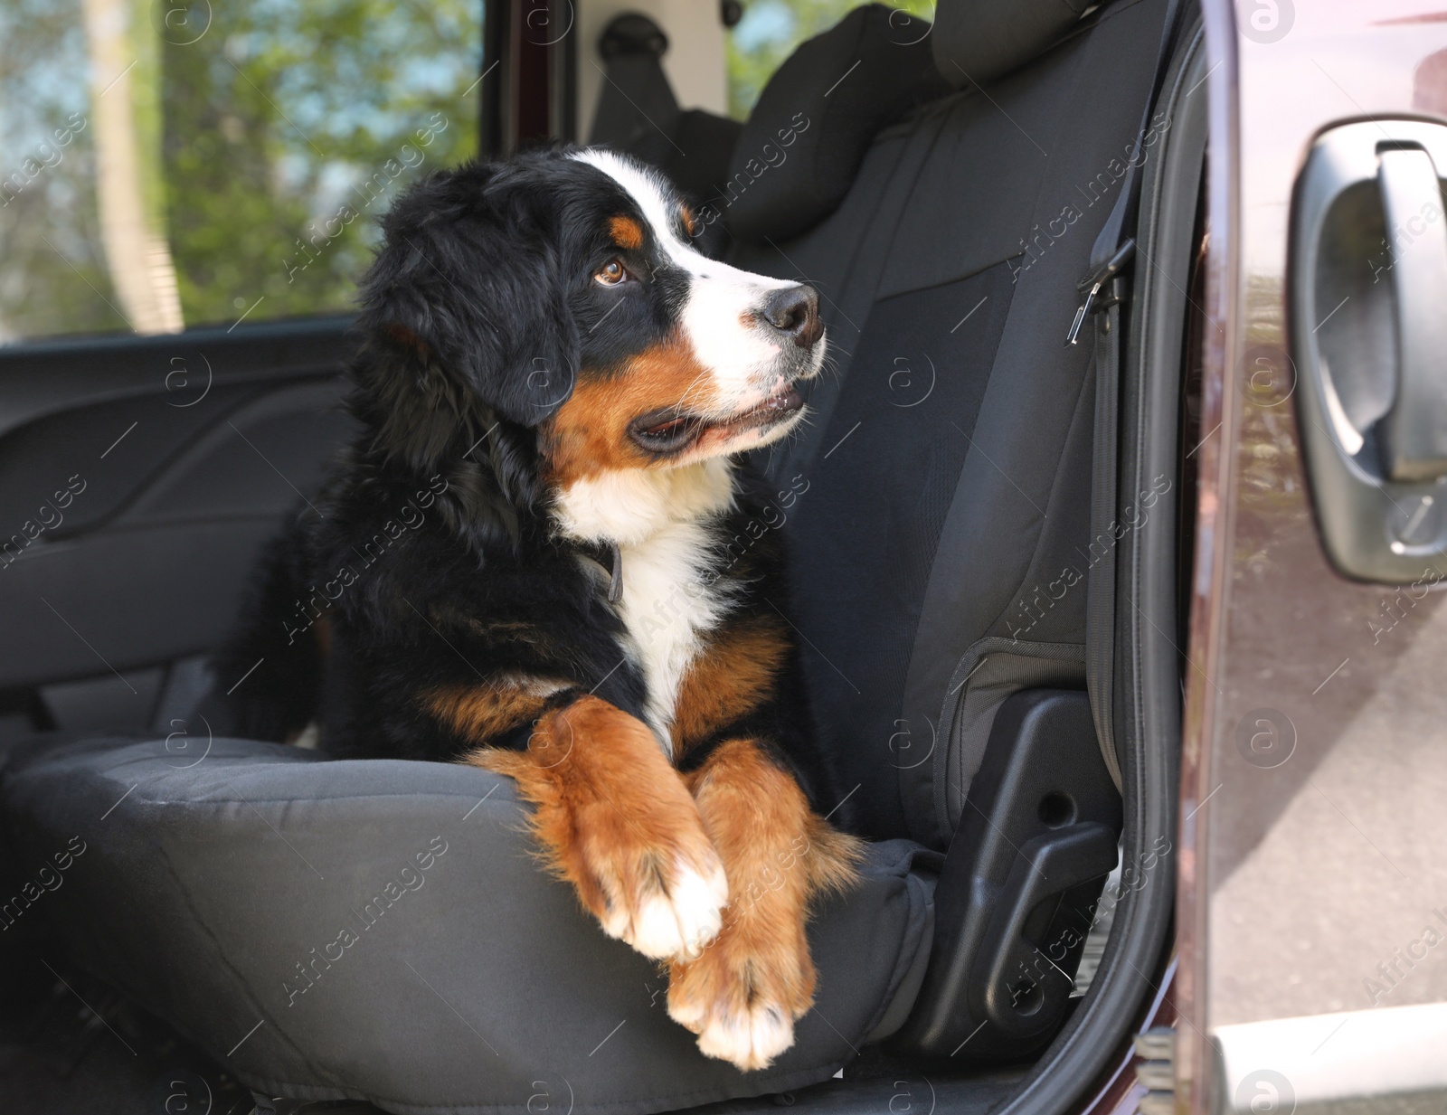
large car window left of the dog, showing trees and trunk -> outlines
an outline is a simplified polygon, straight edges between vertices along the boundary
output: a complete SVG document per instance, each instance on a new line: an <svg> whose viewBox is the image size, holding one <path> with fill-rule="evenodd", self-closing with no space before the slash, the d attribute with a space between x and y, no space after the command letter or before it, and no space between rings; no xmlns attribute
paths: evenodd
<svg viewBox="0 0 1447 1115"><path fill-rule="evenodd" d="M480 0L7 0L0 343L346 311L478 150Z"/></svg>

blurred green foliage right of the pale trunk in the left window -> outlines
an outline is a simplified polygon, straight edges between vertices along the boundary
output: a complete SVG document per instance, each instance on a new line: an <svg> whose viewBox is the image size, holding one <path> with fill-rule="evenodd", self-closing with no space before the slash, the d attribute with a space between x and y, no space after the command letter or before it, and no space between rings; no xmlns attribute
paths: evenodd
<svg viewBox="0 0 1447 1115"><path fill-rule="evenodd" d="M375 221L476 153L475 3L262 0L165 48L168 226L188 324L349 308ZM250 317L247 320L252 320Z"/></svg>

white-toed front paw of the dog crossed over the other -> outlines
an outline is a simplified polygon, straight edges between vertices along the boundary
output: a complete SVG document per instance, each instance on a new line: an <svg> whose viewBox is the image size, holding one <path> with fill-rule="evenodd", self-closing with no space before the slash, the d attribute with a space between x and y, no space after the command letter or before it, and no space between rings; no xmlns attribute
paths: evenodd
<svg viewBox="0 0 1447 1115"><path fill-rule="evenodd" d="M654 960L697 956L724 926L728 881L708 839L683 846L627 846L585 852L598 879L598 920L609 937ZM702 845L702 846L700 846Z"/></svg>

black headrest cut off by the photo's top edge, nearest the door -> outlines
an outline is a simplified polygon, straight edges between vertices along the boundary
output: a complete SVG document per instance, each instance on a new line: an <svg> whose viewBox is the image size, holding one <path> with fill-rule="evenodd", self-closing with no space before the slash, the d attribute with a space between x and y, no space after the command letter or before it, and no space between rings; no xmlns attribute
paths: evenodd
<svg viewBox="0 0 1447 1115"><path fill-rule="evenodd" d="M939 0L930 45L955 88L988 85L1053 46L1100 0Z"/></svg>

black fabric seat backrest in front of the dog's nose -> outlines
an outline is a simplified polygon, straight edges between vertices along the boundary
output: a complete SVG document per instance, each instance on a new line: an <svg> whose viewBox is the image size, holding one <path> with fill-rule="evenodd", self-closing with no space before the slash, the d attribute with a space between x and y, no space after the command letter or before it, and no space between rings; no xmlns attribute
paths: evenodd
<svg viewBox="0 0 1447 1115"><path fill-rule="evenodd" d="M887 129L820 224L729 253L822 295L835 373L768 471L793 493L818 730L873 836L943 849L994 710L1022 688L1084 688L1094 393L1088 346L1064 340L1163 7L1079 23L1059 0L941 4L935 61L961 91ZM1029 65L1014 43L1010 75L981 93L954 58L1006 9L1065 38ZM754 191L789 187L765 175Z"/></svg>

